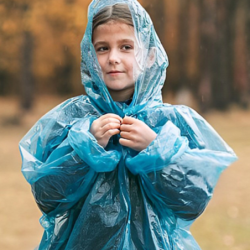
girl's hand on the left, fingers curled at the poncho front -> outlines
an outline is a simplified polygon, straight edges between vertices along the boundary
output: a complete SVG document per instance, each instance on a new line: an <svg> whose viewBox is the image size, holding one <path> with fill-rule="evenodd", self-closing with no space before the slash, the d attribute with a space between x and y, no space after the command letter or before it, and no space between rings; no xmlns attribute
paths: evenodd
<svg viewBox="0 0 250 250"><path fill-rule="evenodd" d="M121 123L120 116L106 114L93 121L90 133L96 138L98 144L105 148L110 137L120 133Z"/></svg>

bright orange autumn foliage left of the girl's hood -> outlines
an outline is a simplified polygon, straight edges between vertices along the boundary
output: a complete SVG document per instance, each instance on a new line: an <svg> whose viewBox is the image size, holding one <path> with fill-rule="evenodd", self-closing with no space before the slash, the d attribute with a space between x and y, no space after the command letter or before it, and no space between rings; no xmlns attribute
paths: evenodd
<svg viewBox="0 0 250 250"><path fill-rule="evenodd" d="M13 73L18 72L24 31L29 31L34 39L33 72L36 77L49 76L54 67L63 65L66 60L65 50L69 49L73 57L79 58L79 44L86 26L90 0L71 2L58 0L1 2L1 68Z"/></svg>

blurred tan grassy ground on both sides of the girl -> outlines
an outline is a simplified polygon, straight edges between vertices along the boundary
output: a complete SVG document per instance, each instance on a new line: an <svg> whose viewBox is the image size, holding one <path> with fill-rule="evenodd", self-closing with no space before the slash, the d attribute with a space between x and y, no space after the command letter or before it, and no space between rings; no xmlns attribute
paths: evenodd
<svg viewBox="0 0 250 250"><path fill-rule="evenodd" d="M43 97L29 114L14 99L0 98L0 249L32 250L41 239L41 216L21 174L18 142L45 112L62 99ZM211 111L208 122L239 160L221 176L203 215L191 227L203 250L250 250L250 111Z"/></svg>

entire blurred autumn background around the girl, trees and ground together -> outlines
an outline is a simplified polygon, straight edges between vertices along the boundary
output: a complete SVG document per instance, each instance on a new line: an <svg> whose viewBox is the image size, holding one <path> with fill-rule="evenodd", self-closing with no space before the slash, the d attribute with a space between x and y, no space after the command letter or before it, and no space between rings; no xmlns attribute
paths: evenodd
<svg viewBox="0 0 250 250"><path fill-rule="evenodd" d="M197 110L239 156L191 231L203 250L250 250L250 1L140 2L169 56L164 101ZM41 239L18 141L52 107L84 94L80 42L89 3L0 1L1 250L34 249Z"/></svg>

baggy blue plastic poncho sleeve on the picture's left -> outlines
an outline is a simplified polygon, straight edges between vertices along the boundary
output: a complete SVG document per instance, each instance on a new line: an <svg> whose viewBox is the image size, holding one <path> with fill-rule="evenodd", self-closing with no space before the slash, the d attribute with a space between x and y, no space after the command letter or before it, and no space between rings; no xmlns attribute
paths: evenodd
<svg viewBox="0 0 250 250"><path fill-rule="evenodd" d="M89 132L96 119L90 111L70 99L43 116L19 144L22 173L46 214L74 206L88 194L97 172L111 171L119 161L116 151L105 151Z"/></svg>

